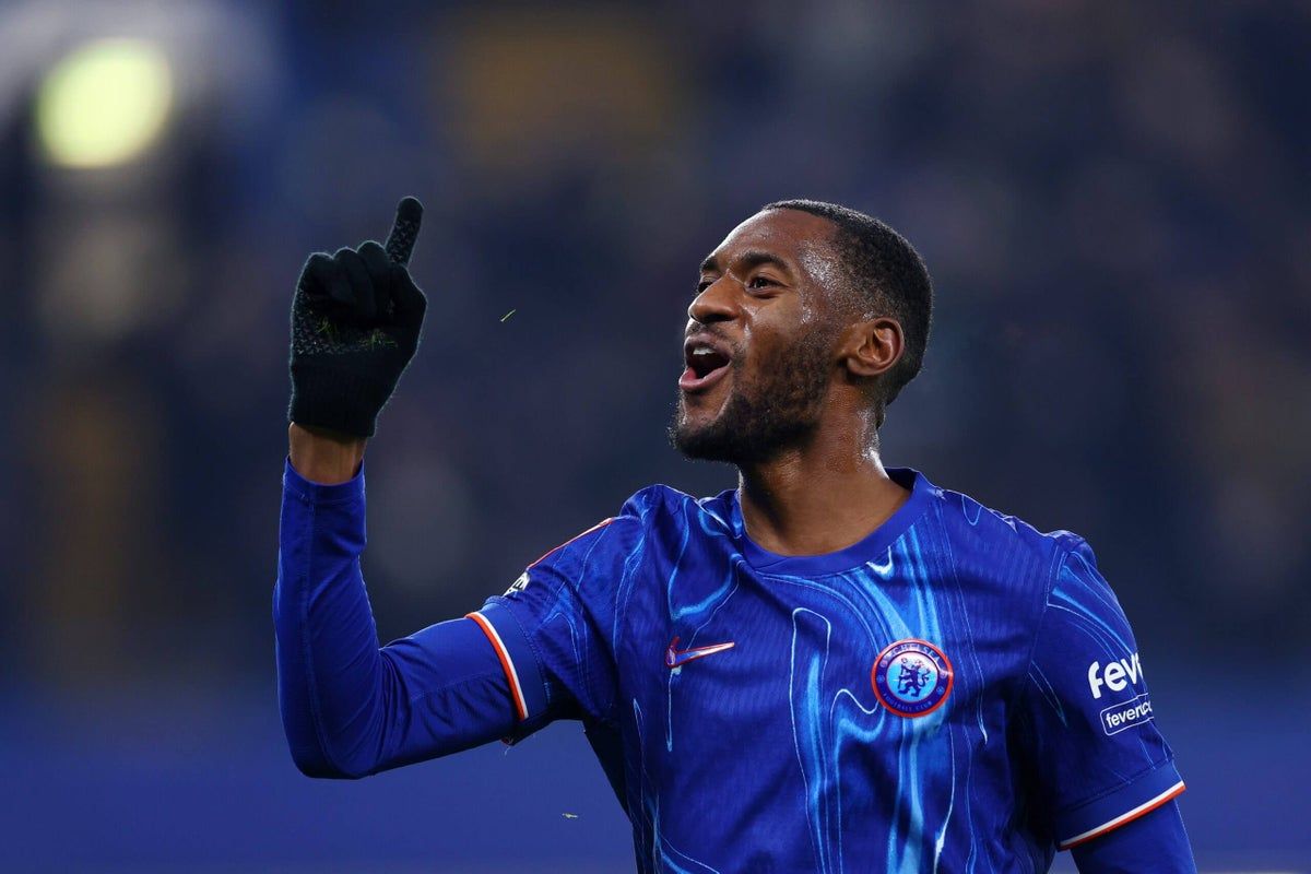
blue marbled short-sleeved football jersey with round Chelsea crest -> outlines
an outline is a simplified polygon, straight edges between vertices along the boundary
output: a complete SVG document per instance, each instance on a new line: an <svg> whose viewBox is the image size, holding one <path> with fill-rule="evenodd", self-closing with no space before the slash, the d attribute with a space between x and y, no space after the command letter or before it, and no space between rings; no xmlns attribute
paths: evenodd
<svg viewBox="0 0 1311 874"><path fill-rule="evenodd" d="M836 553L666 486L471 615L582 719L641 871L1041 871L1184 789L1088 545L929 484Z"/></svg>

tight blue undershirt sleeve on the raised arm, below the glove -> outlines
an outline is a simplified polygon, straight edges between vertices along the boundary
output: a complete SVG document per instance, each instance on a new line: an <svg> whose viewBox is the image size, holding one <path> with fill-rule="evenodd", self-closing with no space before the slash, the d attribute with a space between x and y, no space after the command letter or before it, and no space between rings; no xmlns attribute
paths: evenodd
<svg viewBox="0 0 1311 874"><path fill-rule="evenodd" d="M469 620L379 649L361 574L363 474L284 477L274 592L278 693L292 759L315 777L362 777L510 734L509 684Z"/></svg>

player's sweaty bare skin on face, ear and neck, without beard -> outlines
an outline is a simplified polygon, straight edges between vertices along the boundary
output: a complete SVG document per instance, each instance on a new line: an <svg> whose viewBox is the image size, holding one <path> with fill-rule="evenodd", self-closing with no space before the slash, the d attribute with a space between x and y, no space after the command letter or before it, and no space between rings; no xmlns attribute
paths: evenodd
<svg viewBox="0 0 1311 874"><path fill-rule="evenodd" d="M725 341L735 366L704 390L680 389L675 442L712 428L734 392L767 384L804 337L831 335L822 351L827 384L806 411L804 434L763 459L721 457L738 464L751 539L784 556L850 546L909 497L880 461L869 401L876 380L901 358L901 326L890 318L851 322L827 252L832 233L827 219L797 210L751 216L707 258L687 311L687 334Z"/></svg>

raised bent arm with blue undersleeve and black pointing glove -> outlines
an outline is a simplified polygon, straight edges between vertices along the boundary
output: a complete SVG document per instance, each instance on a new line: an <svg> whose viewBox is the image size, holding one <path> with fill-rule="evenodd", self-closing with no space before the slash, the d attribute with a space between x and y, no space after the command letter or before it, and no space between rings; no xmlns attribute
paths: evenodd
<svg viewBox="0 0 1311 874"><path fill-rule="evenodd" d="M418 346L426 301L406 270L421 207L387 245L309 258L291 313L290 453L274 591L278 696L313 777L362 777L506 736L502 660L471 618L380 647L361 575L367 438Z"/></svg>

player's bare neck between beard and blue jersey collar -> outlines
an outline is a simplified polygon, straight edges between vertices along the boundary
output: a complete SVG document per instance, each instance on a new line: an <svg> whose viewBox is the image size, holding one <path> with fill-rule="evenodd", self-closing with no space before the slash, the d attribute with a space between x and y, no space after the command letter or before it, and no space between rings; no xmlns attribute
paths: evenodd
<svg viewBox="0 0 1311 874"><path fill-rule="evenodd" d="M747 535L781 556L819 556L868 536L910 493L888 477L872 421L815 428L805 446L738 468Z"/></svg>

